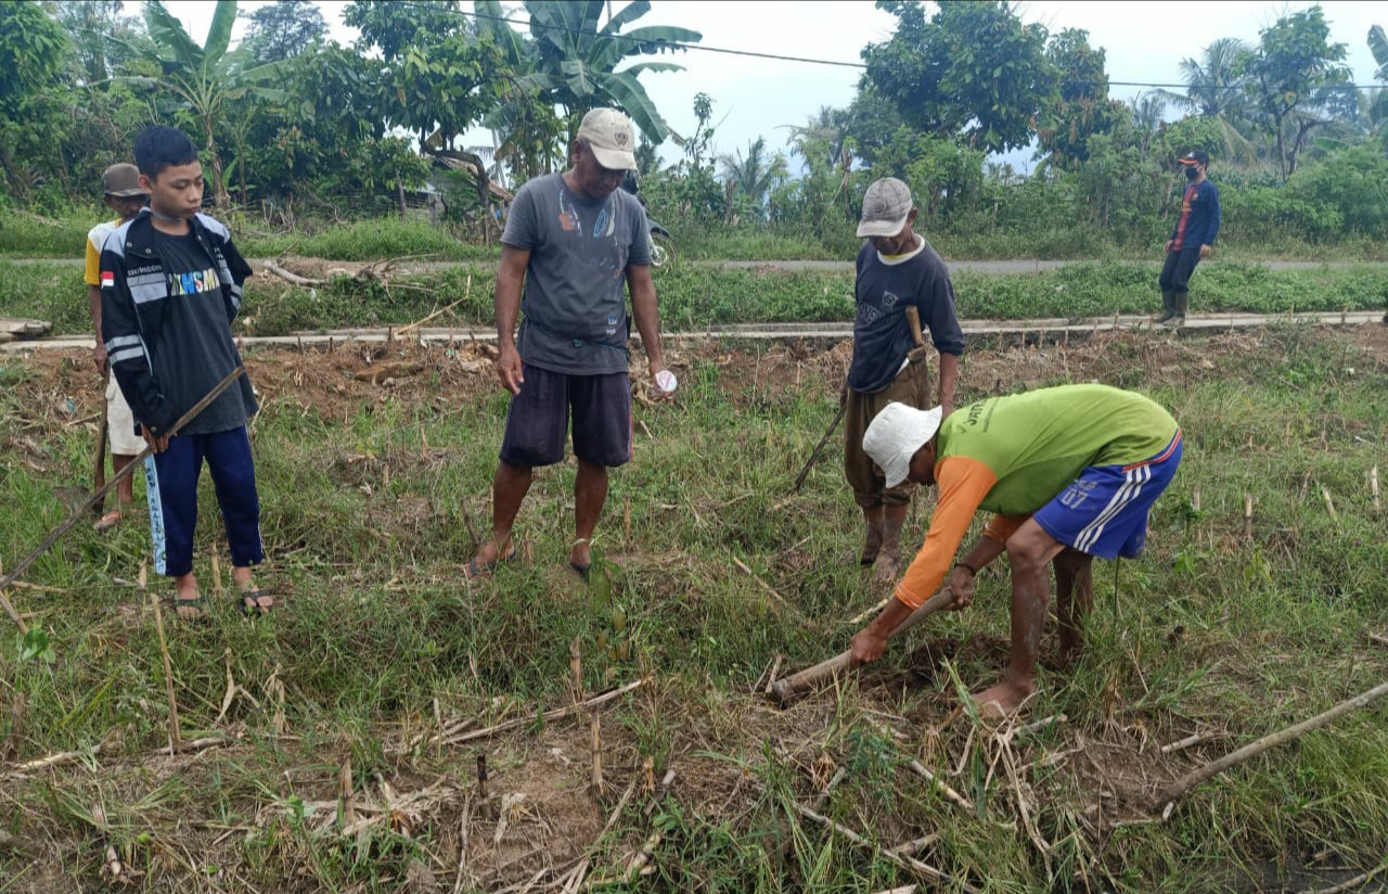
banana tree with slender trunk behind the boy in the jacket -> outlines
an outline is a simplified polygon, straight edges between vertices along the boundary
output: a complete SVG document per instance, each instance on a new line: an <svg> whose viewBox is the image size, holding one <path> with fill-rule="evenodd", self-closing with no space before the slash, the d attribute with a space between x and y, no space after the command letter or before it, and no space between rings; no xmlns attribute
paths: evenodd
<svg viewBox="0 0 1388 894"><path fill-rule="evenodd" d="M144 24L154 40L154 50L146 50L146 54L158 64L161 76L122 79L174 94L197 118L212 162L212 196L219 208L230 199L222 182L222 157L215 136L218 124L226 117L226 103L244 97L275 103L289 99L286 92L268 86L279 76L280 62L254 65L244 49L228 51L235 22L236 0L217 0L207 43L197 46L160 0L149 0L144 4Z"/></svg>

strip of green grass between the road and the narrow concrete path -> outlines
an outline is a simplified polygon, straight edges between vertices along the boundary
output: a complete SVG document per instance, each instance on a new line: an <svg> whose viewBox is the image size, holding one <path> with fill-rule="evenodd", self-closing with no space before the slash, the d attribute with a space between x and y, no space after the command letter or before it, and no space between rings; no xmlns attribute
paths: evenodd
<svg viewBox="0 0 1388 894"><path fill-rule="evenodd" d="M300 272L316 276L330 267L323 261L297 265ZM1158 272L1156 264L1109 261L1069 264L1041 273L963 271L952 279L958 311L965 319L1083 318L1155 312L1160 303ZM490 325L494 282L496 267L490 264L458 264L394 276L389 285L335 278L329 286L314 290L262 273L251 278L236 326L237 333L244 335L282 335L403 325L465 297L434 325ZM680 265L658 271L655 282L666 329L743 322L847 322L854 315L851 272ZM1191 294L1195 312L1388 310L1388 269L1273 271L1255 264L1217 262L1199 268ZM83 296L82 275L75 267L21 267L0 260L0 315L47 319L60 335L85 333L90 321Z"/></svg>

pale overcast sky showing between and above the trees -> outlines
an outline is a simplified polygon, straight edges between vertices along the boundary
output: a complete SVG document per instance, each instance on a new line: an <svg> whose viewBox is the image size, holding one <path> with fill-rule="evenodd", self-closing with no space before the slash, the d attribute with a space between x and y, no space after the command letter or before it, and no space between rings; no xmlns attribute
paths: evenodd
<svg viewBox="0 0 1388 894"><path fill-rule="evenodd" d="M212 4L198 0L167 0L201 42L211 24ZM243 10L264 6L246 0ZM318 0L328 19L330 36L339 43L355 39L355 29L343 25L344 0ZM471 10L471 3L462 3ZM615 10L626 3L616 0ZM1022 4L1026 22L1040 22L1052 33L1063 28L1084 28L1090 42L1108 51L1110 81L1178 83L1178 64L1184 57L1199 57L1205 46L1219 37L1256 42L1258 31L1287 12L1309 8L1310 3L1266 0L1127 0L1124 3L1078 0L1030 0ZM1355 83L1373 83L1374 61L1367 36L1371 25L1388 28L1388 4L1362 0L1326 0L1320 4L1330 21L1331 40L1346 44ZM525 18L523 11L515 14ZM861 62L859 51L872 42L891 35L895 18L876 8L870 0L801 0L798 3L741 0L652 0L651 11L638 25L680 25L704 33L711 47L755 50L812 58ZM240 22L236 36L244 32ZM722 53L691 50L665 61L684 65L686 71L641 75L641 83L677 132L694 130L694 94L713 97L713 122L722 122L715 135L720 153L745 151L747 144L765 136L773 149L786 144L783 125L801 125L820 106L847 106L861 69L759 60ZM1142 87L1113 87L1116 99L1131 99ZM490 143L486 132L468 136L469 143ZM666 144L666 160L677 150ZM1030 151L1006 157L1015 167L1030 168Z"/></svg>

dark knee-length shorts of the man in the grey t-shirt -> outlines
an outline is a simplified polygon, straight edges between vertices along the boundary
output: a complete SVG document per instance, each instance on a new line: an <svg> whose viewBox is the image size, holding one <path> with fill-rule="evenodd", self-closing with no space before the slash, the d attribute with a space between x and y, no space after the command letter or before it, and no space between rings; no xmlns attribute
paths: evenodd
<svg viewBox="0 0 1388 894"><path fill-rule="evenodd" d="M632 458L632 382L625 372L572 376L523 364L525 382L511 398L501 461L532 468L564 459L573 415L573 455L619 466Z"/></svg>

